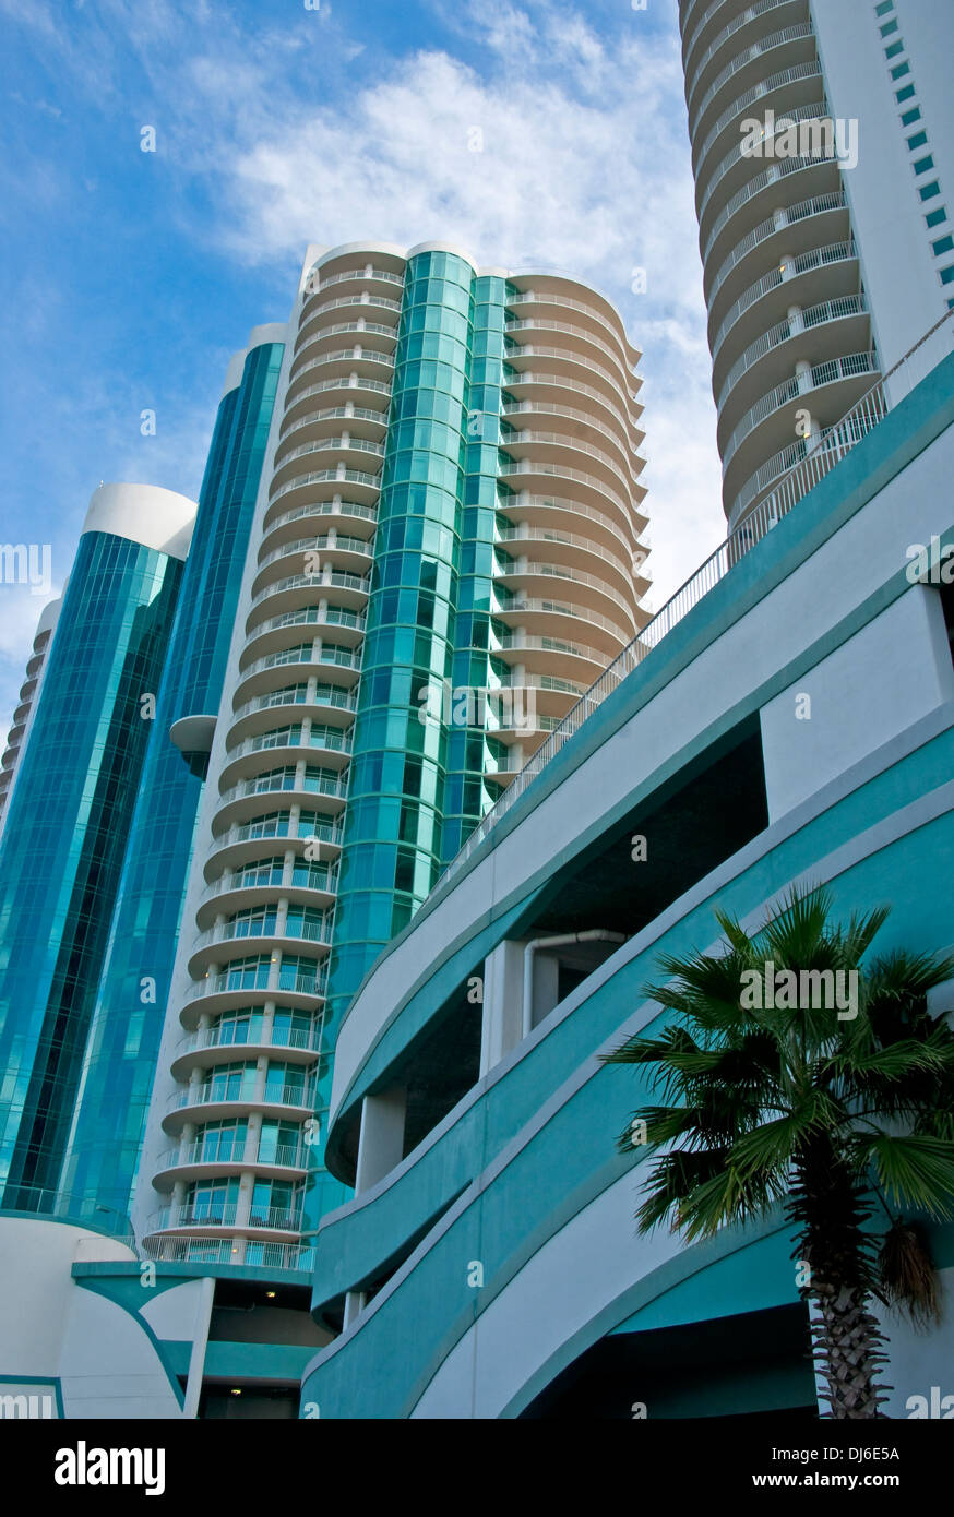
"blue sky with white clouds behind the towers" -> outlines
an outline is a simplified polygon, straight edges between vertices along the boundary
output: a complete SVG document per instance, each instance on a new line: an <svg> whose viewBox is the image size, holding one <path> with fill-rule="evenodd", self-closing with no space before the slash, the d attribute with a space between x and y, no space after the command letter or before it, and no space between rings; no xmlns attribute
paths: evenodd
<svg viewBox="0 0 954 1517"><path fill-rule="evenodd" d="M645 355L654 604L722 539L675 0L0 0L0 539L50 543L55 589L100 481L196 496L228 358L287 319L308 241L604 288ZM0 733L42 604L0 586Z"/></svg>

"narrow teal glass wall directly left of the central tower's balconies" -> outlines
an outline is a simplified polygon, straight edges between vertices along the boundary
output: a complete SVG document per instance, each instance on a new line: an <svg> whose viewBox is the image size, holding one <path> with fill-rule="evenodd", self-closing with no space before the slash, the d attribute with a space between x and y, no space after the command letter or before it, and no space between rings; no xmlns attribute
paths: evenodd
<svg viewBox="0 0 954 1517"><path fill-rule="evenodd" d="M168 730L221 701L282 353L253 347L218 408L126 850L61 1185L105 1227L132 1203L203 786Z"/></svg>

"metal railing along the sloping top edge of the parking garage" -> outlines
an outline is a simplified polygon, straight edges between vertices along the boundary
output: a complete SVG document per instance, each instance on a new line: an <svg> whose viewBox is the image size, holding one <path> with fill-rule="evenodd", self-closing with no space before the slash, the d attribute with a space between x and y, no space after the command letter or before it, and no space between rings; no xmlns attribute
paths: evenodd
<svg viewBox="0 0 954 1517"><path fill-rule="evenodd" d="M601 674L599 680L590 686L587 693L573 705L573 708L563 718L560 725L554 728L546 742L537 749L532 758L523 765L520 772L511 781L510 787L504 792L501 799L491 807L490 812L482 818L481 822L470 833L467 842L461 851L450 860L447 868L440 874L435 881L437 886L449 880L473 851L484 842L484 839L493 831L499 821L510 812L516 801L523 795L526 787L535 780L535 777L546 768L551 758L560 752L569 739L579 731L582 724L596 711L608 695L613 693L634 669L646 658L648 654L657 648L666 634L683 620L683 617L693 610L702 601L714 586L725 578L725 575L733 569L740 558L761 542L761 539L769 532L783 516L798 505L804 496L814 488L814 485L825 478L834 469L852 448L857 446L868 434L883 420L890 407L896 405L910 390L918 384L927 369L922 363L915 363L916 355L924 358L924 347L931 343L933 338L948 338L948 349L937 352L930 367L934 363L940 363L942 356L946 356L949 350L949 338L954 334L954 309L948 311L940 317L939 322L931 326L924 337L915 343L913 347L907 350L904 358L901 358L893 369L883 375L872 388L861 396L861 399L836 422L825 432L821 432L816 438L807 438L802 443L805 449L804 457L799 458L777 482L772 492L761 499L755 508L745 517L743 522L736 526L733 532L725 539L723 543L716 548L713 554L696 569L696 572L683 584L673 596L669 598L664 607L652 617L651 622L642 630L642 633L634 637L634 640L623 648L622 654L613 660L613 663ZM946 328L946 331L945 331ZM939 343L940 347L940 343ZM890 393L890 402L889 402Z"/></svg>

